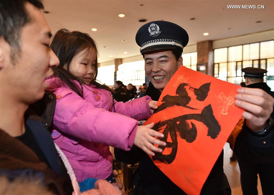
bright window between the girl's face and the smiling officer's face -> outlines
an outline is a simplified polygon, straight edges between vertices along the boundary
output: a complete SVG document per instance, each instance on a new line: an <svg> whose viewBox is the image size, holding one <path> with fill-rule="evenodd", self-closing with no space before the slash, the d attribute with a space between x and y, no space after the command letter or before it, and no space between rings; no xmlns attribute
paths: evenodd
<svg viewBox="0 0 274 195"><path fill-rule="evenodd" d="M142 85L145 82L145 61L128 62L118 66L117 81L124 85Z"/></svg>

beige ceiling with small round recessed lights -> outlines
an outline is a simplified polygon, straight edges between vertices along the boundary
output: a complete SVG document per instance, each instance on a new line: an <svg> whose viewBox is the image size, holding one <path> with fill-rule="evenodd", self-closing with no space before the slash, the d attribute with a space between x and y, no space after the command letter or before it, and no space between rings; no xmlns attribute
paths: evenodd
<svg viewBox="0 0 274 195"><path fill-rule="evenodd" d="M45 17L53 33L61 28L89 33L97 42L99 62L139 55L135 34L143 24L155 20L182 26L189 34L188 45L274 28L273 0L44 0L43 3L49 11ZM264 9L227 9L227 5L264 5ZM124 18L118 17L121 13ZM147 22L141 23L139 19ZM98 30L94 32L92 28ZM205 32L209 35L204 36Z"/></svg>

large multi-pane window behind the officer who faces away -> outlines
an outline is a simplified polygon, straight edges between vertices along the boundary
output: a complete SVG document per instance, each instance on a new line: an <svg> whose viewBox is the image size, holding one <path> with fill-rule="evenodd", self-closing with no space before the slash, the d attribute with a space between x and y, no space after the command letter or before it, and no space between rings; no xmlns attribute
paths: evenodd
<svg viewBox="0 0 274 195"><path fill-rule="evenodd" d="M240 84L242 68L266 69L267 84L274 89L274 40L214 50L214 77Z"/></svg>

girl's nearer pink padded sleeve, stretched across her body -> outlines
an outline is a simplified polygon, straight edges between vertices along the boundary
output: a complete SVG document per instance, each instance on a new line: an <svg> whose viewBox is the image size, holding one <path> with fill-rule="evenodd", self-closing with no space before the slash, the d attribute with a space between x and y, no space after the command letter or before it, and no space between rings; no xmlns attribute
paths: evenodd
<svg viewBox="0 0 274 195"><path fill-rule="evenodd" d="M132 148L139 122L119 113L96 108L68 88L54 91L53 125L70 136L123 150ZM119 109L118 109L119 110Z"/></svg>

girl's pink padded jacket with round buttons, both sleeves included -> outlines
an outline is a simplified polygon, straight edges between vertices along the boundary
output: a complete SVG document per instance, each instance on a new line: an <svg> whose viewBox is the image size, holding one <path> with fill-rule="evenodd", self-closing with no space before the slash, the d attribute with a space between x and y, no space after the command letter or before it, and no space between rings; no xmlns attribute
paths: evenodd
<svg viewBox="0 0 274 195"><path fill-rule="evenodd" d="M114 113L111 92L105 89L83 85L82 98L57 77L46 82L50 83L47 90L61 96L56 100L51 135L67 156L77 181L88 177L106 179L112 172L109 145L130 150L137 120L151 115L151 98L145 96L126 103L114 100Z"/></svg>

